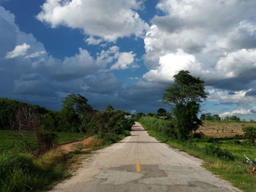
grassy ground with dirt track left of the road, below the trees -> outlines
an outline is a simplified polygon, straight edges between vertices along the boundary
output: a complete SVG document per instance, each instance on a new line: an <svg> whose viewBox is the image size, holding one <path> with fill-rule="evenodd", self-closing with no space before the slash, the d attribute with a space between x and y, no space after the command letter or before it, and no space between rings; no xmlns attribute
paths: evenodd
<svg viewBox="0 0 256 192"><path fill-rule="evenodd" d="M57 143L74 142L85 138L84 134L57 133ZM113 142L129 135L105 134L97 137L95 143L88 146L78 146L77 150L70 153L61 153L50 150L39 158L29 154L23 142L20 141L12 131L0 131L0 192L15 191L48 191L56 183L70 177L84 158L88 158L91 152L106 147ZM31 137L27 135L30 142ZM89 139L89 138L88 138ZM37 146L35 146L37 147ZM87 151L80 151L84 147L91 147Z"/></svg>

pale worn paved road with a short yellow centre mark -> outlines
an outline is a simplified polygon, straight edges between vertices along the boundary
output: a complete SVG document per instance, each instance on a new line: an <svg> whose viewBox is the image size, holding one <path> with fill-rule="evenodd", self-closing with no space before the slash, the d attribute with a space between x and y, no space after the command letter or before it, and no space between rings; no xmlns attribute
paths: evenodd
<svg viewBox="0 0 256 192"><path fill-rule="evenodd" d="M148 136L136 123L131 136L98 150L52 191L238 191L201 164Z"/></svg>

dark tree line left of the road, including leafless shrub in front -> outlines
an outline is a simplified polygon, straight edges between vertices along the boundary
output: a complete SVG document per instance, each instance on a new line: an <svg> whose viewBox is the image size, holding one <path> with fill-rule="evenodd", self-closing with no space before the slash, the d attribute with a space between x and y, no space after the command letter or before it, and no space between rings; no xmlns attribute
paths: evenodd
<svg viewBox="0 0 256 192"><path fill-rule="evenodd" d="M129 135L133 124L129 112L114 110L110 105L102 111L94 110L80 94L67 95L60 111L22 101L0 99L0 129L13 130L26 148L31 149L33 147L27 137L29 134L39 146L33 151L35 155L43 154L53 147L56 132L80 132L111 140L117 135Z"/></svg>

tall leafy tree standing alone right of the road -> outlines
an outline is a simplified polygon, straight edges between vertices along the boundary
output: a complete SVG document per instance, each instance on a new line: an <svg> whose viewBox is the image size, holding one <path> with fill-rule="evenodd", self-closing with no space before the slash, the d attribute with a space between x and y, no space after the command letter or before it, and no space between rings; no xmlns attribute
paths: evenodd
<svg viewBox="0 0 256 192"><path fill-rule="evenodd" d="M176 134L178 139L188 139L192 131L202 125L197 118L200 102L206 99L203 80L193 77L189 71L180 71L174 76L174 83L165 91L162 99L172 107L176 117Z"/></svg>

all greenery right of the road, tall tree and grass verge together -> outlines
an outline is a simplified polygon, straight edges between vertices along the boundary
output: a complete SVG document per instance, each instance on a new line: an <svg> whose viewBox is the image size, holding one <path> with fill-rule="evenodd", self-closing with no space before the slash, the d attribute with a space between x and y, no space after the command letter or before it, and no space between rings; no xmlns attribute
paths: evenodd
<svg viewBox="0 0 256 192"><path fill-rule="evenodd" d="M203 166L237 188L255 191L256 167L246 162L244 154L252 160L256 158L256 123L246 123L236 116L221 119L219 115L203 114L197 118L206 92L203 80L192 77L188 71L174 75L174 83L166 92L163 101L170 105L171 114L138 113L135 119L159 141L205 160ZM238 123L241 124L237 134L207 135L208 129L225 132L225 125Z"/></svg>

